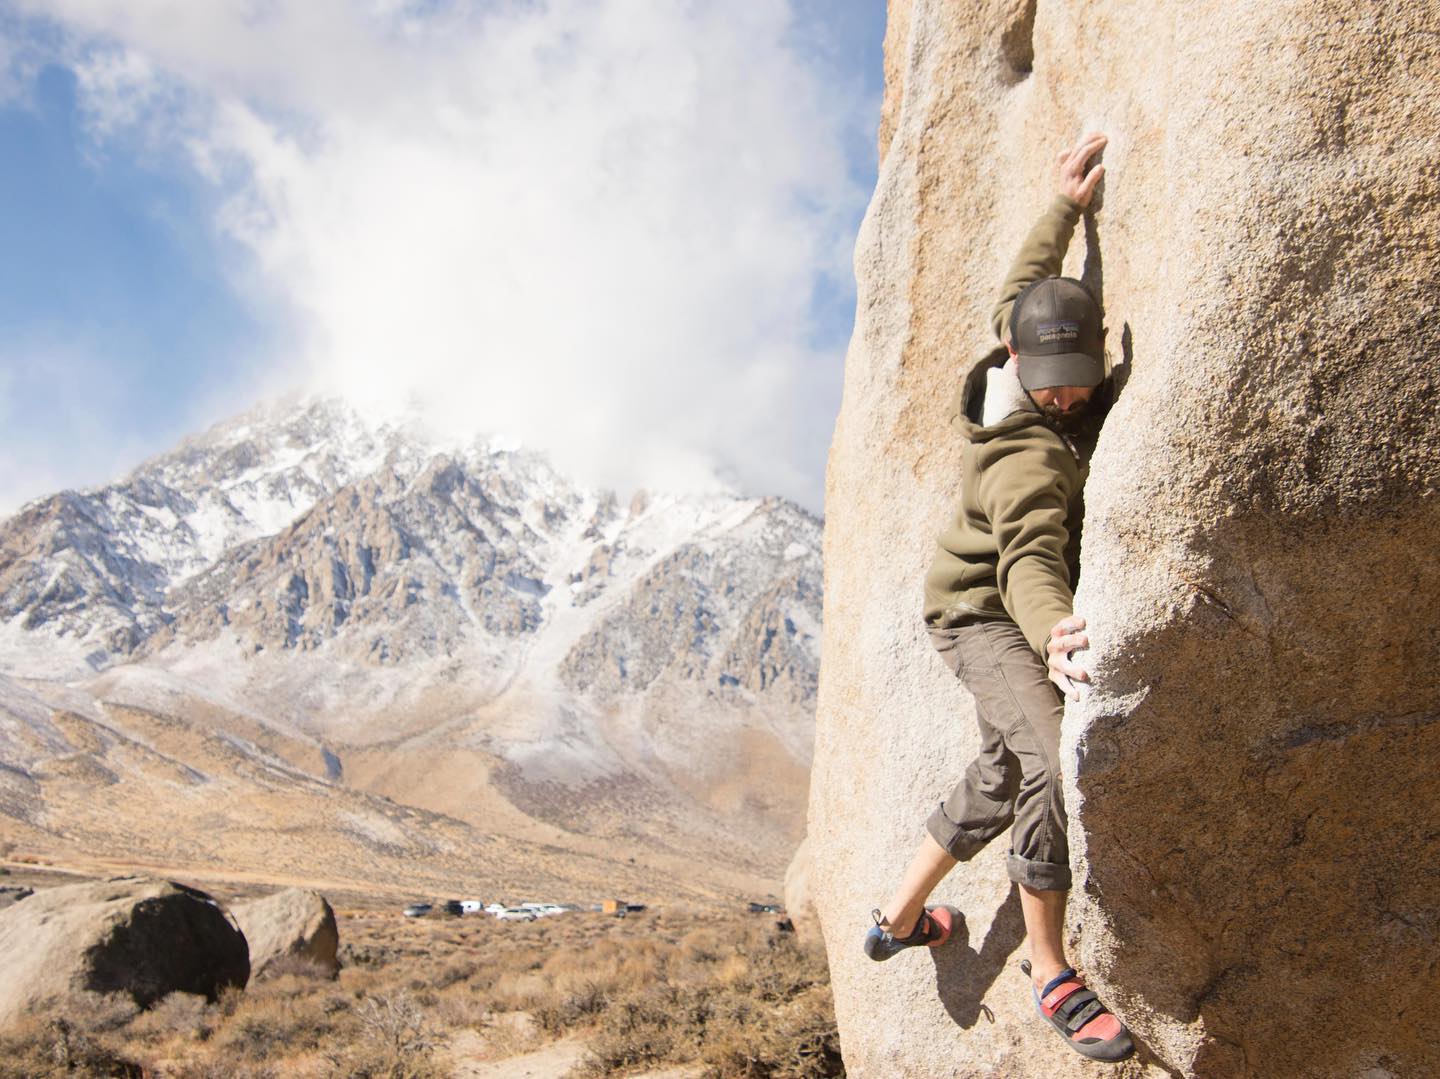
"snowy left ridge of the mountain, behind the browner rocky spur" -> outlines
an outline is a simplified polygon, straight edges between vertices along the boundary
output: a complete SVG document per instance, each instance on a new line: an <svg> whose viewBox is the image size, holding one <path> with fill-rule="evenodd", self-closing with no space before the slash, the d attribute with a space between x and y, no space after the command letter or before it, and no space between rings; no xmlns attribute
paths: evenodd
<svg viewBox="0 0 1440 1079"><path fill-rule="evenodd" d="M0 520L0 619L43 630L52 671L81 645L102 668L166 624L167 589L405 449L334 402L272 405L118 483L35 500Z"/></svg>

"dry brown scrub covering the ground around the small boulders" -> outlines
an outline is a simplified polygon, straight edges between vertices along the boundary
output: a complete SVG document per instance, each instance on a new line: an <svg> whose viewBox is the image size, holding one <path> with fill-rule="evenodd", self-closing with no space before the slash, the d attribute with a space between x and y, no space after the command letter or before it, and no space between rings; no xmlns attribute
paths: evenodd
<svg viewBox="0 0 1440 1079"><path fill-rule="evenodd" d="M495 1060L566 1036L589 1049L577 1079L672 1065L714 1079L842 1073L824 961L769 919L351 913L341 941L336 980L294 965L216 1003L72 1003L0 1037L0 1079L438 1079L456 1063L452 1040Z"/></svg>

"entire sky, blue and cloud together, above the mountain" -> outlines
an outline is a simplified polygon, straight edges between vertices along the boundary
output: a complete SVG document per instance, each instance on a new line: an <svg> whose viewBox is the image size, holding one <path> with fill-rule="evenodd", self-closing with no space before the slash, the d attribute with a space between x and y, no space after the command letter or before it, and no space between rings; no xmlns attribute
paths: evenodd
<svg viewBox="0 0 1440 1079"><path fill-rule="evenodd" d="M0 514L289 386L819 509L883 0L35 7L0 0Z"/></svg>

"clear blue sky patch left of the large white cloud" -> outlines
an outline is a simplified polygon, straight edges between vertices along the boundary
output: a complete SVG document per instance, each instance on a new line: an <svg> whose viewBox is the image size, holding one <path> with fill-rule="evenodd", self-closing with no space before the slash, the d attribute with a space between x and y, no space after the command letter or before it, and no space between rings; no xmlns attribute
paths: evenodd
<svg viewBox="0 0 1440 1079"><path fill-rule="evenodd" d="M0 109L0 513L111 478L243 399L274 330L228 279L200 183L95 151L66 68L27 89Z"/></svg>

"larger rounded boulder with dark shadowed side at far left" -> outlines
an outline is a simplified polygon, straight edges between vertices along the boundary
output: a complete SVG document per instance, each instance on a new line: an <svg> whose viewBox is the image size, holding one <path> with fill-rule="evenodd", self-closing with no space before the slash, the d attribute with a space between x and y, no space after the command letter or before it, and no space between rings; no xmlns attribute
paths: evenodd
<svg viewBox="0 0 1440 1079"><path fill-rule="evenodd" d="M0 910L0 1027L78 993L148 1007L249 978L240 931L204 892L145 877L45 889Z"/></svg>

